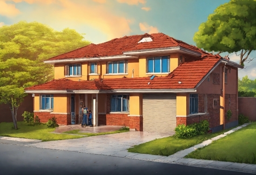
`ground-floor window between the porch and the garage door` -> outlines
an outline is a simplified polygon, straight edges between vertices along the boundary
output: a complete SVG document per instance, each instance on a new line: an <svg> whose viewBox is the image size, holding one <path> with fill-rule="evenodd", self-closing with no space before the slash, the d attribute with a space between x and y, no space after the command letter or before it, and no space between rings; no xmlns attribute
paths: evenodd
<svg viewBox="0 0 256 175"><path fill-rule="evenodd" d="M111 95L110 104L111 112L128 112L129 95Z"/></svg>

